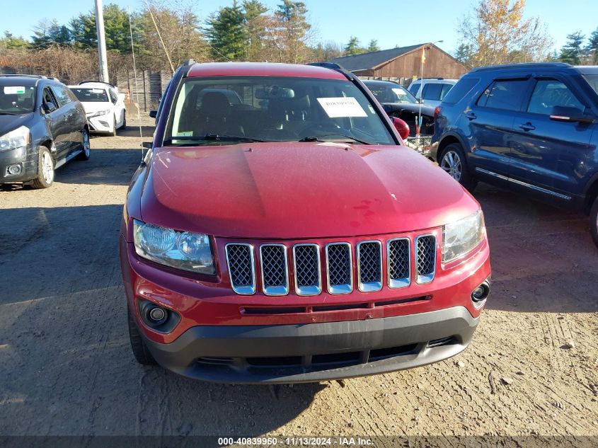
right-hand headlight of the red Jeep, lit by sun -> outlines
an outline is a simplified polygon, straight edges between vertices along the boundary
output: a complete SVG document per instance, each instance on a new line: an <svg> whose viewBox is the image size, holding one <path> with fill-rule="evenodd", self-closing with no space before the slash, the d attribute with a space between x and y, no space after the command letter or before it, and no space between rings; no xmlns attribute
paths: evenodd
<svg viewBox="0 0 598 448"><path fill-rule="evenodd" d="M485 236L481 210L442 227L442 263L459 258L476 248Z"/></svg>

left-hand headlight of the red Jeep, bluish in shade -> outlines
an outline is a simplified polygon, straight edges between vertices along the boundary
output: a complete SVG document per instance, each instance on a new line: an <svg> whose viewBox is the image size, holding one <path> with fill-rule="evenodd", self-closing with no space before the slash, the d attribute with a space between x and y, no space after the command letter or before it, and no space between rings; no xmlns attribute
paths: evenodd
<svg viewBox="0 0 598 448"><path fill-rule="evenodd" d="M133 220L137 255L171 268L215 275L214 255L206 234L194 234Z"/></svg>

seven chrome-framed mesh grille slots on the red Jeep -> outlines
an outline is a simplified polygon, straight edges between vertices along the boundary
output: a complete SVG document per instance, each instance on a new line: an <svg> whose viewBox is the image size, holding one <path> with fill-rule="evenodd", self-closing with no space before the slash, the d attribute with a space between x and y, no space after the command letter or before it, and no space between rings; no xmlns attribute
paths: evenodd
<svg viewBox="0 0 598 448"><path fill-rule="evenodd" d="M259 247L262 290L269 296L289 294L289 256L294 265L294 287L299 296L320 294L323 287L330 294L348 294L357 284L360 292L374 292L382 289L384 277L389 288L401 288L411 283L411 259L415 259L415 282L428 283L434 280L436 271L436 237L420 235L415 238L411 249L410 239L396 238L386 241L383 251L381 241L360 241L355 246L357 281L353 279L353 250L350 243L330 243L325 246L321 261L320 246L301 243L287 246L266 243ZM383 269L386 257L386 272ZM254 294L255 259L253 246L248 243L226 244L226 261L229 266L231 286L237 294ZM326 264L326 285L323 286L323 264Z"/></svg>

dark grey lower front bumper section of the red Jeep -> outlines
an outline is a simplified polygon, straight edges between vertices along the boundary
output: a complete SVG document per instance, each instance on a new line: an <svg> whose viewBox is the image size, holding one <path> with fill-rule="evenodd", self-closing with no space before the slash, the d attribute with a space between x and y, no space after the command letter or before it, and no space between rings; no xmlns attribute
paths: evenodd
<svg viewBox="0 0 598 448"><path fill-rule="evenodd" d="M294 383L418 367L461 352L479 318L463 306L367 321L194 326L173 343L144 336L178 374L224 383ZM142 332L143 334L143 332Z"/></svg>

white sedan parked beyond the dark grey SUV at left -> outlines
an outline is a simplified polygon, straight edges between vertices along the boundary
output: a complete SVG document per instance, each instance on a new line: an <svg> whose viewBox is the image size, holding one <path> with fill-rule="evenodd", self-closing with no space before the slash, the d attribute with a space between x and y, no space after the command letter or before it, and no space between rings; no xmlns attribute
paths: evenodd
<svg viewBox="0 0 598 448"><path fill-rule="evenodd" d="M89 130L116 135L116 130L127 126L124 96L117 88L99 81L85 81L69 86L85 108Z"/></svg>

